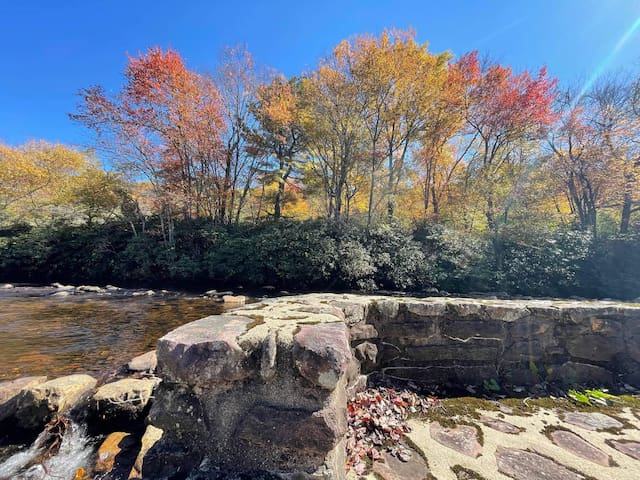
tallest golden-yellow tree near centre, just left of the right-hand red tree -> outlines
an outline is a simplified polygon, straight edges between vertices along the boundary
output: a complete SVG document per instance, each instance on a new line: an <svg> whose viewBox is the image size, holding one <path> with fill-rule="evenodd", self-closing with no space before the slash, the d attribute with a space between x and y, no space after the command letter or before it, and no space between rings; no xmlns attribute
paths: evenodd
<svg viewBox="0 0 640 480"><path fill-rule="evenodd" d="M448 54L433 55L413 31L385 30L380 36L360 35L334 50L357 86L355 101L366 132L369 162L367 223L376 206L387 200L393 216L395 195L405 159L427 127L446 76ZM386 169L383 169L383 162ZM385 185L377 195L379 177Z"/></svg>

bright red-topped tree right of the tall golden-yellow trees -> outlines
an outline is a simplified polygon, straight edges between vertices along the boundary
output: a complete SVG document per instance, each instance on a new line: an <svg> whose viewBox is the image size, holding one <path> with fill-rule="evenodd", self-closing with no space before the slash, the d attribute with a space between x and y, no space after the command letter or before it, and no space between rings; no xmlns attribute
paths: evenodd
<svg viewBox="0 0 640 480"><path fill-rule="evenodd" d="M481 192L484 215L492 234L496 260L500 263L499 230L507 217L510 185L521 174L529 158L527 144L544 137L553 122L556 81L541 69L529 72L481 62L477 52L457 62L466 82L464 105L468 135L477 140L468 154L468 172L474 188Z"/></svg>

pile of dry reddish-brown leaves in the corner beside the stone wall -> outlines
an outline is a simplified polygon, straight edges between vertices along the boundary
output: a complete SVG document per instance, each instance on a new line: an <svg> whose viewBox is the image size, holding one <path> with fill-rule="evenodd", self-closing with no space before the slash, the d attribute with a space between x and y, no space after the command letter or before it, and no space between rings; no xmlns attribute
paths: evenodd
<svg viewBox="0 0 640 480"><path fill-rule="evenodd" d="M367 459L380 459L385 449L403 462L408 461L411 453L400 444L402 436L411 431L407 418L427 413L437 405L436 398L421 397L409 390L381 387L357 393L347 404L347 470L364 474Z"/></svg>

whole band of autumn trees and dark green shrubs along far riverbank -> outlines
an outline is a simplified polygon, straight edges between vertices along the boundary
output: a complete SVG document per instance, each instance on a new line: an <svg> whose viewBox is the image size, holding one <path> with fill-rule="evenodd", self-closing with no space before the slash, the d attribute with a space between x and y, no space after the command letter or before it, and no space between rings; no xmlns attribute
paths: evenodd
<svg viewBox="0 0 640 480"><path fill-rule="evenodd" d="M0 146L0 276L633 299L639 92L400 30L291 78L151 48L80 91L91 150Z"/></svg>

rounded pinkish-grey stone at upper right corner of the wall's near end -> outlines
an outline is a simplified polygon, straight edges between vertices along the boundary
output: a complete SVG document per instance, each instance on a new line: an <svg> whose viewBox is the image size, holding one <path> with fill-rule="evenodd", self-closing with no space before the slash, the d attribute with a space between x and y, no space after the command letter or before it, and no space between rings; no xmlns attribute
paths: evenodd
<svg viewBox="0 0 640 480"><path fill-rule="evenodd" d="M294 336L293 360L300 375L327 390L336 387L352 358L343 323L303 325Z"/></svg>

